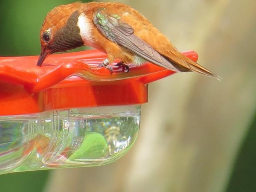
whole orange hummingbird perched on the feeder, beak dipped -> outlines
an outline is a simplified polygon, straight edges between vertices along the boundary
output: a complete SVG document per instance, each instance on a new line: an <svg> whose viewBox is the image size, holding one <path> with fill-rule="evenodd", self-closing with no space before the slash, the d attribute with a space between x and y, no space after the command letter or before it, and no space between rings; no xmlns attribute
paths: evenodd
<svg viewBox="0 0 256 192"><path fill-rule="evenodd" d="M221 80L221 77L182 55L177 48L140 12L123 3L71 3L55 7L44 19L40 31L41 66L49 54L84 45L107 54L100 67L116 59L123 72L129 64L149 61L176 71L195 71Z"/></svg>

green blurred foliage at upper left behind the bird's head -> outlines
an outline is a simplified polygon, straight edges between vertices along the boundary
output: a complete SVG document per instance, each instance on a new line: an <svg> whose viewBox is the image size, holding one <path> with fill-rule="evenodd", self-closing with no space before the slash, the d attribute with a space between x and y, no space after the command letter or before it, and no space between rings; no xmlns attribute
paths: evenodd
<svg viewBox="0 0 256 192"><path fill-rule="evenodd" d="M39 55L39 31L44 17L55 6L73 2L75 1L1 0L0 55Z"/></svg>

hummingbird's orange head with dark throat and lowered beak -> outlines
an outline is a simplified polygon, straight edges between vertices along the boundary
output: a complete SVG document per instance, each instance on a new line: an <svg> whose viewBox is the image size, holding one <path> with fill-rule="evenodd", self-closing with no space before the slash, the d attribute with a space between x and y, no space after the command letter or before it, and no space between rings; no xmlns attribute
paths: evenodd
<svg viewBox="0 0 256 192"><path fill-rule="evenodd" d="M41 53L37 62L41 66L49 54L81 47L84 42L77 25L81 3L55 7L44 19L40 31Z"/></svg>

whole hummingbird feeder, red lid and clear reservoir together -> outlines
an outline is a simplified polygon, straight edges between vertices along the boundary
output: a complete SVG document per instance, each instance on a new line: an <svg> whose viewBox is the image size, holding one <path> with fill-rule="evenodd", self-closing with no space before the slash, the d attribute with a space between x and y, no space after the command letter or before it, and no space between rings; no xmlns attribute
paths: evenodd
<svg viewBox="0 0 256 192"><path fill-rule="evenodd" d="M197 61L196 52L184 55ZM134 143L148 83L175 72L108 69L97 50L0 58L0 174L113 162ZM118 61L116 61L118 62Z"/></svg>

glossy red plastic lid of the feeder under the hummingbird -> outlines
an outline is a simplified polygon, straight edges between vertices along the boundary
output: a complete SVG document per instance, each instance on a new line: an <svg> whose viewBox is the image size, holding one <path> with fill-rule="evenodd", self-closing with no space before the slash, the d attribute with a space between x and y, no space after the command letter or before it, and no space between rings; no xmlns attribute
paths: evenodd
<svg viewBox="0 0 256 192"><path fill-rule="evenodd" d="M196 52L183 54L197 61ZM175 73L146 63L129 65L129 73L113 64L110 74L97 67L105 57L98 50L49 55L42 67L38 56L0 57L0 115L142 104L148 83Z"/></svg>

